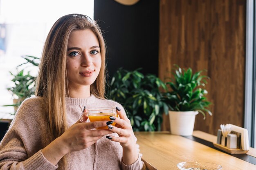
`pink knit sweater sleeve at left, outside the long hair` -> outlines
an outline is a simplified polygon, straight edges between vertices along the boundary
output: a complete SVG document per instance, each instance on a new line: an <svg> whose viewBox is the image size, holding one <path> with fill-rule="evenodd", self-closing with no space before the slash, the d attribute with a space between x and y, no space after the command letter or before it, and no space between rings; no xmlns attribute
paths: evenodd
<svg viewBox="0 0 256 170"><path fill-rule="evenodd" d="M25 113L29 105L31 108L31 104L31 101L27 101L20 106L0 143L0 170L55 170L58 168L43 156L41 148L34 148L29 153L27 151L31 143L36 143L34 138L36 132L31 132L35 127L28 126L27 121L31 120Z"/></svg>

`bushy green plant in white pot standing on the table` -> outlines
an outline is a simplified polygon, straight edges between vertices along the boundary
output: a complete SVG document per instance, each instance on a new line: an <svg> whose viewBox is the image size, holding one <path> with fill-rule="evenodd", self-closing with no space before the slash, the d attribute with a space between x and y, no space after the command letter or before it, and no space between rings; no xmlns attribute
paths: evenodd
<svg viewBox="0 0 256 170"><path fill-rule="evenodd" d="M200 70L193 74L192 69L181 69L175 65L174 78L167 82L170 91L164 93L164 101L169 107L171 133L189 136L193 133L195 115L205 113L212 115L207 107L211 104L205 97L208 93L204 89L208 76L201 75Z"/></svg>

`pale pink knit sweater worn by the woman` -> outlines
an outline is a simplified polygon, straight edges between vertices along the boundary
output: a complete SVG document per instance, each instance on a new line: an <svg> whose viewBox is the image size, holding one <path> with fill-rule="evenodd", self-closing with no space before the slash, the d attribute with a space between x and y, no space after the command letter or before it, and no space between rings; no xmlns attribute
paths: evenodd
<svg viewBox="0 0 256 170"><path fill-rule="evenodd" d="M89 98L66 98L67 120L71 126L79 120L83 107L121 107L112 100ZM55 170L42 154L47 143L47 125L42 117L42 98L26 99L19 107L9 130L0 143L0 169ZM113 133L111 135L116 135ZM122 162L122 147L105 136L89 148L67 154L68 170L140 170L141 157L130 166Z"/></svg>

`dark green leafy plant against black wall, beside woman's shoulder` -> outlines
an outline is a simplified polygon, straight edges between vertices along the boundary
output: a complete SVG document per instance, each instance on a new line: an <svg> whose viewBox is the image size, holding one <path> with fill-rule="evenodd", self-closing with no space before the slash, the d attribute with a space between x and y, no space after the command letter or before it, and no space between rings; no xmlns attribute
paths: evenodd
<svg viewBox="0 0 256 170"><path fill-rule="evenodd" d="M126 109L134 131L160 131L162 113L168 113L160 87L166 89L153 74L119 68L106 89L108 98Z"/></svg>

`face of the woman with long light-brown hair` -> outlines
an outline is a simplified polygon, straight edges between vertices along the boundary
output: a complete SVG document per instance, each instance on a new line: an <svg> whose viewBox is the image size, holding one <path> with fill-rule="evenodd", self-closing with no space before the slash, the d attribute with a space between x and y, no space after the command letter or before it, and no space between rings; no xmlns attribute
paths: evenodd
<svg viewBox="0 0 256 170"><path fill-rule="evenodd" d="M67 48L69 88L91 85L101 68L101 53L96 35L90 29L73 31Z"/></svg>

